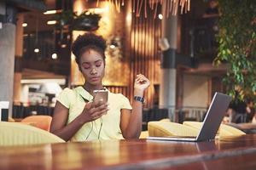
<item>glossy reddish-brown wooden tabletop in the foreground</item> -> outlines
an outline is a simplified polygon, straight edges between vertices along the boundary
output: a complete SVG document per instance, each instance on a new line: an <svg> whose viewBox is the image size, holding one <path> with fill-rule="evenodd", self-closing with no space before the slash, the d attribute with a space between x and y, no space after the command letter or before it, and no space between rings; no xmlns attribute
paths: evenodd
<svg viewBox="0 0 256 170"><path fill-rule="evenodd" d="M98 140L0 147L0 169L211 169L216 162L226 169L233 161L255 169L255 156L256 134L198 143Z"/></svg>

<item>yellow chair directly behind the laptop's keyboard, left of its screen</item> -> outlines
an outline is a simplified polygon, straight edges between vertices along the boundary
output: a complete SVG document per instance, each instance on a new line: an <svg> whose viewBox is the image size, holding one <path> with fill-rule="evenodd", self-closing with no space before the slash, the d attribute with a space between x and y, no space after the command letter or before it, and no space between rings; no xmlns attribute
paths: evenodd
<svg viewBox="0 0 256 170"><path fill-rule="evenodd" d="M149 136L196 136L198 131L177 122L148 122Z"/></svg>

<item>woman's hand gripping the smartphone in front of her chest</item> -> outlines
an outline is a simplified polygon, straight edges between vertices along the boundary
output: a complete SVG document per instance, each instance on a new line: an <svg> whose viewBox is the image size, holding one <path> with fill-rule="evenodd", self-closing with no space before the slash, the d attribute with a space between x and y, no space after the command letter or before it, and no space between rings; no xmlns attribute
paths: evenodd
<svg viewBox="0 0 256 170"><path fill-rule="evenodd" d="M84 123L92 122L107 114L107 112L108 103L103 103L102 101L89 102L84 106L81 116L83 117Z"/></svg>

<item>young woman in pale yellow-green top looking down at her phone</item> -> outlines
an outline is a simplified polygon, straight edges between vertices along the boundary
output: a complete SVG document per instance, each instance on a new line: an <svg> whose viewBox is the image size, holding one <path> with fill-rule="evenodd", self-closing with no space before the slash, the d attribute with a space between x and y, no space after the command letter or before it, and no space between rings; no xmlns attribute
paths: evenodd
<svg viewBox="0 0 256 170"><path fill-rule="evenodd" d="M132 106L122 94L108 91L108 103L93 101L103 89L106 42L95 34L79 36L72 51L82 72L83 87L65 88L57 98L50 132L66 141L135 139L142 130L143 94L150 82L137 75Z"/></svg>

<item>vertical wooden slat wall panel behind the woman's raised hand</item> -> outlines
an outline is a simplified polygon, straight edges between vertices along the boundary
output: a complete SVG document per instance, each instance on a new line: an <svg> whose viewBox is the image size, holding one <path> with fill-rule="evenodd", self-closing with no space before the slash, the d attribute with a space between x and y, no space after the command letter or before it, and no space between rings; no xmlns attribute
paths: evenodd
<svg viewBox="0 0 256 170"><path fill-rule="evenodd" d="M143 10L142 10L143 11ZM137 74L142 73L151 81L145 98L145 107L154 105L154 84L159 84L161 20L154 19L154 12L148 8L148 16L132 14L130 41L130 86L129 98L133 98L133 84ZM157 94L158 95L158 94Z"/></svg>

